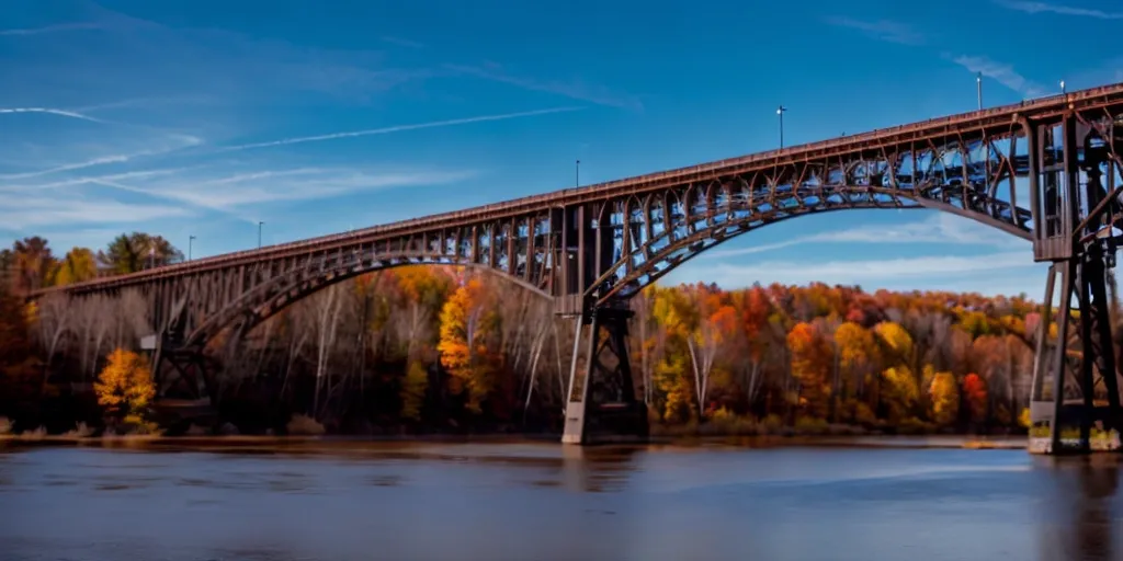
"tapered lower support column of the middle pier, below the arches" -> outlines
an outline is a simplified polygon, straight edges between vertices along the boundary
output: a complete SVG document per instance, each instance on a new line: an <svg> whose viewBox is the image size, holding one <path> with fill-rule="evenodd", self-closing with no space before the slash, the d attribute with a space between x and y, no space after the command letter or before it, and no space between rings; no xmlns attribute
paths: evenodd
<svg viewBox="0 0 1123 561"><path fill-rule="evenodd" d="M647 439L647 404L636 399L628 359L631 315L628 309L594 307L575 319L563 443Z"/></svg>

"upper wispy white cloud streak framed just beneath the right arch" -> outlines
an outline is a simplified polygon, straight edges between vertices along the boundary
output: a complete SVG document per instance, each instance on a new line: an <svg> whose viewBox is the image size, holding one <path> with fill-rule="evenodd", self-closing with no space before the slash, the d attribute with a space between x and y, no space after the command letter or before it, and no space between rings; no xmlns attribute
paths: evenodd
<svg viewBox="0 0 1123 561"><path fill-rule="evenodd" d="M746 236L751 236L746 234ZM924 220L886 227L858 227L801 236L789 240L738 249L714 249L702 258L724 258L764 254L807 243L931 243L955 246L985 246L1004 249L1024 248L1025 240L993 228L946 213L934 213Z"/></svg>

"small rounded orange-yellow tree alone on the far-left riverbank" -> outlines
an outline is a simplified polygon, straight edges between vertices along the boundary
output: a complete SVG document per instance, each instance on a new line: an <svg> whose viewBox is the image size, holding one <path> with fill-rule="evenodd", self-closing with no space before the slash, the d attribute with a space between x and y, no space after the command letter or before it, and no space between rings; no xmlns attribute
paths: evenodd
<svg viewBox="0 0 1123 561"><path fill-rule="evenodd" d="M116 349L93 385L98 404L118 419L143 417L156 396L148 362L140 355Z"/></svg>

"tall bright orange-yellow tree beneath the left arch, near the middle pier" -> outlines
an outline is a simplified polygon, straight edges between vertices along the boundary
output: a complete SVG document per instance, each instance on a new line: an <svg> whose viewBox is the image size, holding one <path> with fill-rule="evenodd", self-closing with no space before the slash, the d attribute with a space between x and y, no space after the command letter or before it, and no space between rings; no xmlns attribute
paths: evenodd
<svg viewBox="0 0 1123 561"><path fill-rule="evenodd" d="M465 405L473 413L483 412L483 402L495 386L495 365L487 349L487 334L494 329L485 311L484 286L473 278L457 288L440 311L440 364L451 379L449 389L459 395L465 389Z"/></svg>

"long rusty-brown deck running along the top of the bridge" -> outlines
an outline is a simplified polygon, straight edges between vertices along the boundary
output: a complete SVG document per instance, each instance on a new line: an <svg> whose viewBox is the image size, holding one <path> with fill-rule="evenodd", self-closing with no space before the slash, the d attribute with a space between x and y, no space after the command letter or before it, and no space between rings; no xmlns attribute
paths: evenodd
<svg viewBox="0 0 1123 561"><path fill-rule="evenodd" d="M957 131L964 131L967 126L973 126L970 127L973 130L976 129L974 126L984 130L1008 129L1010 125L1015 119L1025 113L1032 112L1034 118L1043 118L1060 114L1068 108L1076 104L1083 105L1096 102L1119 101L1123 101L1123 83L1061 95L1039 98L1031 101L1023 101L1015 104L1002 105L982 111L971 111L929 119L897 127L875 129L859 135L792 146L783 149L768 150L736 158L721 159L667 172L651 173L584 187L567 188L551 193L524 196L462 211L402 220L362 230L354 230L346 233L321 236L301 241L267 246L259 249L234 251L230 254L195 259L190 263L170 265L130 275L88 280L85 283L69 285L66 289L112 286L122 283L172 277L186 272L217 269L221 267L229 267L231 265L238 265L239 263L253 263L262 259L282 257L294 252L317 250L319 247L326 248L339 243L340 241L347 241L356 238L381 236L389 237L422 228L455 228L481 220L517 215L536 209L560 208L564 205L600 200L605 196L640 193L672 185L707 181L718 176L728 175L730 173L770 168L773 166L806 162L809 159L832 157L834 155L841 156L867 149L877 149L887 145L901 145L910 141L922 141L937 137L947 137L948 135L956 134ZM40 291L40 293L37 294L43 294L53 289L54 288L48 288Z"/></svg>

